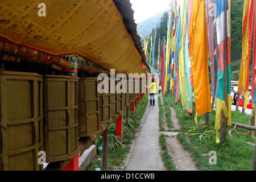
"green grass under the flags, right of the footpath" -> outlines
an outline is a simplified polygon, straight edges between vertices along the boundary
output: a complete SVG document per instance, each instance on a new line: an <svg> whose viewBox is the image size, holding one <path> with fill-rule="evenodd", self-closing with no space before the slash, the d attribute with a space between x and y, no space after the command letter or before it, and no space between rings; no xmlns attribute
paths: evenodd
<svg viewBox="0 0 256 182"><path fill-rule="evenodd" d="M164 100L168 101L170 105L176 110L176 117L179 119L181 131L187 132L191 127L195 127L195 119L187 114L187 111L181 108L180 101L175 104L174 98L171 96L164 96ZM214 126L215 111L210 114L209 123ZM198 121L203 119L205 115L200 115ZM232 121L249 124L250 115L242 114L240 111L232 111ZM255 143L255 139L251 134L243 135L232 131L233 138L228 134L234 126L228 126L226 129L226 142L216 143L215 135L208 139L199 139L197 135L187 137L184 133L177 135L177 138L183 144L184 148L192 153L196 165L200 170L204 171L251 171L253 168L254 146L243 142ZM238 132L247 133L249 130L237 129ZM219 131L220 134L220 131ZM216 164L209 164L210 151L215 151L217 156Z"/></svg>

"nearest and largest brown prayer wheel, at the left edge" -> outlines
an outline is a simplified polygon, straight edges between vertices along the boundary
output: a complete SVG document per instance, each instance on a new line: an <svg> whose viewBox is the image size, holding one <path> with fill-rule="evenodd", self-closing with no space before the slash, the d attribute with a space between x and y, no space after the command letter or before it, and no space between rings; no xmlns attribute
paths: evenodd
<svg viewBox="0 0 256 182"><path fill-rule="evenodd" d="M0 170L43 170L43 76L2 71L0 84Z"/></svg>

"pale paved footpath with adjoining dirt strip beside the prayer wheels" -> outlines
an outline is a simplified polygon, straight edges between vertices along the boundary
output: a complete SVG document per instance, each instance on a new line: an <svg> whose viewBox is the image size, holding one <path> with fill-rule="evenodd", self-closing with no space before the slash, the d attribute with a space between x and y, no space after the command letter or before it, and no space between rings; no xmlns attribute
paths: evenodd
<svg viewBox="0 0 256 182"><path fill-rule="evenodd" d="M160 134L166 135L166 142L174 160L175 166L179 171L197 171L195 162L191 157L191 153L184 150L183 145L176 138L179 133L175 130L180 129L180 125L176 118L175 110L171 108L172 128L169 129L166 119L163 119L166 131L159 130L159 105L158 97L155 97L155 106L147 105L146 111L141 120L141 126L135 135L135 139L131 144L131 149L123 171L166 171L166 167L162 160L162 149L159 143ZM162 97L161 102L163 105Z"/></svg>

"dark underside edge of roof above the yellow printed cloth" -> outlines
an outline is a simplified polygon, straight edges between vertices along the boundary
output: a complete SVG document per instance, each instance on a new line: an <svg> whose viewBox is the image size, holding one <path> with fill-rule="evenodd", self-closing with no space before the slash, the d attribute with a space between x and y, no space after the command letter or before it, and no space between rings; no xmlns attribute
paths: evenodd
<svg viewBox="0 0 256 182"><path fill-rule="evenodd" d="M126 29L131 35L131 38L133 38L135 47L141 55L143 62L146 64L148 71L151 73L151 68L147 64L145 52L141 45L141 37L137 34L137 24L134 21L134 11L131 8L130 0L113 0L113 2L123 16L123 22L125 23Z"/></svg>

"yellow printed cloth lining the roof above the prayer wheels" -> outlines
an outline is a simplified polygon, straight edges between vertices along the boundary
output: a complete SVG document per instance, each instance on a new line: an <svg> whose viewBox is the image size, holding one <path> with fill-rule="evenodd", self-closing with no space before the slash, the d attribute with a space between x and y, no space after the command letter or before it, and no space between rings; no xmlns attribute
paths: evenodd
<svg viewBox="0 0 256 182"><path fill-rule="evenodd" d="M0 37L55 56L76 53L117 73L146 73L144 52L112 0L45 0L45 9L41 2L1 1Z"/></svg>

